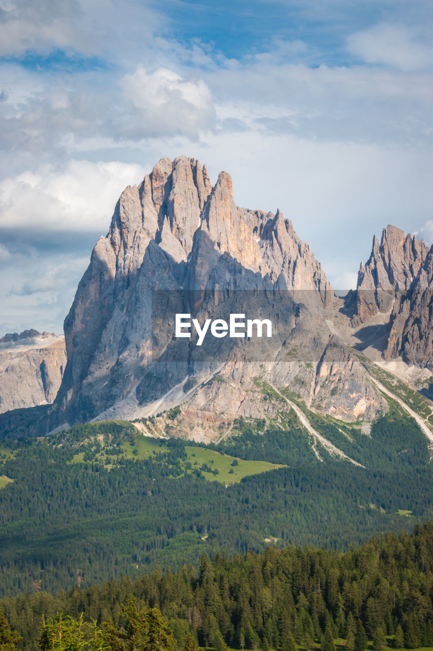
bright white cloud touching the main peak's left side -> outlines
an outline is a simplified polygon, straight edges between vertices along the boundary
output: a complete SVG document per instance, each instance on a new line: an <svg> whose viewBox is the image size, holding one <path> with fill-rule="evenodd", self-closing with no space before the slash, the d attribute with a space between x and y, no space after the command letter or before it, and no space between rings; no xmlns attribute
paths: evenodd
<svg viewBox="0 0 433 651"><path fill-rule="evenodd" d="M0 182L0 226L105 233L120 193L142 176L140 165L80 160L10 176Z"/></svg>

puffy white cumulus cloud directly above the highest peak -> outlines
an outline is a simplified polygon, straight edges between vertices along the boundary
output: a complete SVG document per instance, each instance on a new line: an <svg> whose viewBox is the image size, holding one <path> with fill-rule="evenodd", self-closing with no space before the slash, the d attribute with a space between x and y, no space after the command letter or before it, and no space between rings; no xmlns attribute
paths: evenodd
<svg viewBox="0 0 433 651"><path fill-rule="evenodd" d="M185 79L168 68L148 73L138 66L124 77L123 87L140 112L147 135L181 134L194 139L213 124L211 91L203 79Z"/></svg>

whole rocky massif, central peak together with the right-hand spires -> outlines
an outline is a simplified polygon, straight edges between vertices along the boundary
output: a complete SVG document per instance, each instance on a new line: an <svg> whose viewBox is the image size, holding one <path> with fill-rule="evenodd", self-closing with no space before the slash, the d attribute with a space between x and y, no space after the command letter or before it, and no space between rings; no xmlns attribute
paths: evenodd
<svg viewBox="0 0 433 651"><path fill-rule="evenodd" d="M291 412L318 458L325 449L356 462L344 441L324 436L326 419L368 433L400 400L433 443L414 400L428 393L433 368L431 256L389 226L380 243L374 238L356 292L338 298L280 210L239 208L228 173L211 186L196 159L163 158L116 204L64 322L68 363L57 398L43 412L20 413L20 431L144 419L147 434L218 441L235 419L283 428ZM176 335L176 314L189 338ZM231 337L229 326L221 334L230 314L268 320L272 337L259 338L256 326L244 337ZM199 328L209 320L199 345L193 319ZM406 388L397 391L397 381ZM0 428L10 434L16 422L10 413Z"/></svg>

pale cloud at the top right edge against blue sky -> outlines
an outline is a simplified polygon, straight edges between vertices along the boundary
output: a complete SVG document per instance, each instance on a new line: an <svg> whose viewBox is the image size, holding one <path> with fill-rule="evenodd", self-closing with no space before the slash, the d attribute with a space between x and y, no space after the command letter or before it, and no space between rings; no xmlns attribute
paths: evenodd
<svg viewBox="0 0 433 651"><path fill-rule="evenodd" d="M423 36L419 28L379 23L348 36L347 48L368 63L428 70L433 65L433 47L431 35L426 40Z"/></svg>

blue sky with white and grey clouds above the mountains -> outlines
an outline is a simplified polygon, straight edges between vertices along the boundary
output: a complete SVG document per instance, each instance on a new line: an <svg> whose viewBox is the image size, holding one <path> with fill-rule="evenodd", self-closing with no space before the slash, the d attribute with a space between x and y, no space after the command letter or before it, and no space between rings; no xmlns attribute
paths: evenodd
<svg viewBox="0 0 433 651"><path fill-rule="evenodd" d="M62 333L163 156L282 210L333 286L387 224L433 243L430 0L0 0L0 336Z"/></svg>

